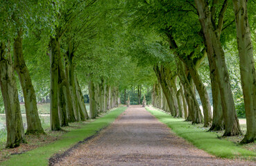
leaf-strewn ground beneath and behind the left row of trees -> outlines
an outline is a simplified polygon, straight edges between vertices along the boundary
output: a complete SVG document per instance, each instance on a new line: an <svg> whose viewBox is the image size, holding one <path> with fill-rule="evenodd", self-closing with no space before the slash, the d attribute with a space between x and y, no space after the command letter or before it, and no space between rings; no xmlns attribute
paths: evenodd
<svg viewBox="0 0 256 166"><path fill-rule="evenodd" d="M6 121L5 121L5 114L0 113L0 162L3 160L8 160L10 156L16 155L16 154L23 154L26 151L31 151L32 149L35 149L37 147L42 147L44 145L47 145L51 142L55 142L56 140L59 140L63 134L72 131L74 129L79 129L80 127L83 127L88 122L92 122L93 120L87 120L86 122L73 122L69 123L68 127L62 127L62 131L51 131L50 130L50 115L49 115L49 103L43 103L43 104L37 104L37 108L40 115L40 120L42 123L42 127L44 128L45 135L26 135L25 139L27 143L22 143L19 147L13 148L13 149L6 149L6 130L2 129L2 127L5 127ZM24 104L21 104L21 110L22 110L22 120L24 122L24 128L26 129L26 114L25 113L25 107ZM88 106L87 106L88 107ZM88 109L88 108L87 108ZM104 116L105 114L102 114L101 116ZM1 165L1 164L0 164Z"/></svg>

